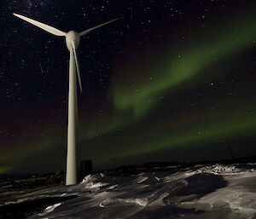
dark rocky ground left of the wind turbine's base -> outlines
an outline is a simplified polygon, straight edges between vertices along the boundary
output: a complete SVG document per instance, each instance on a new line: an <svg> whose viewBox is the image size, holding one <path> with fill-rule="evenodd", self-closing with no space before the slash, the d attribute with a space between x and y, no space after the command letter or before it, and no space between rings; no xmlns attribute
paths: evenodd
<svg viewBox="0 0 256 219"><path fill-rule="evenodd" d="M64 182L65 174L62 171L48 174L0 176L0 218L26 218L34 212L54 204L61 198L58 200L55 198L38 199L37 201L27 200L22 203L16 203L15 200L26 193L64 185ZM66 199L67 197L61 201Z"/></svg>

